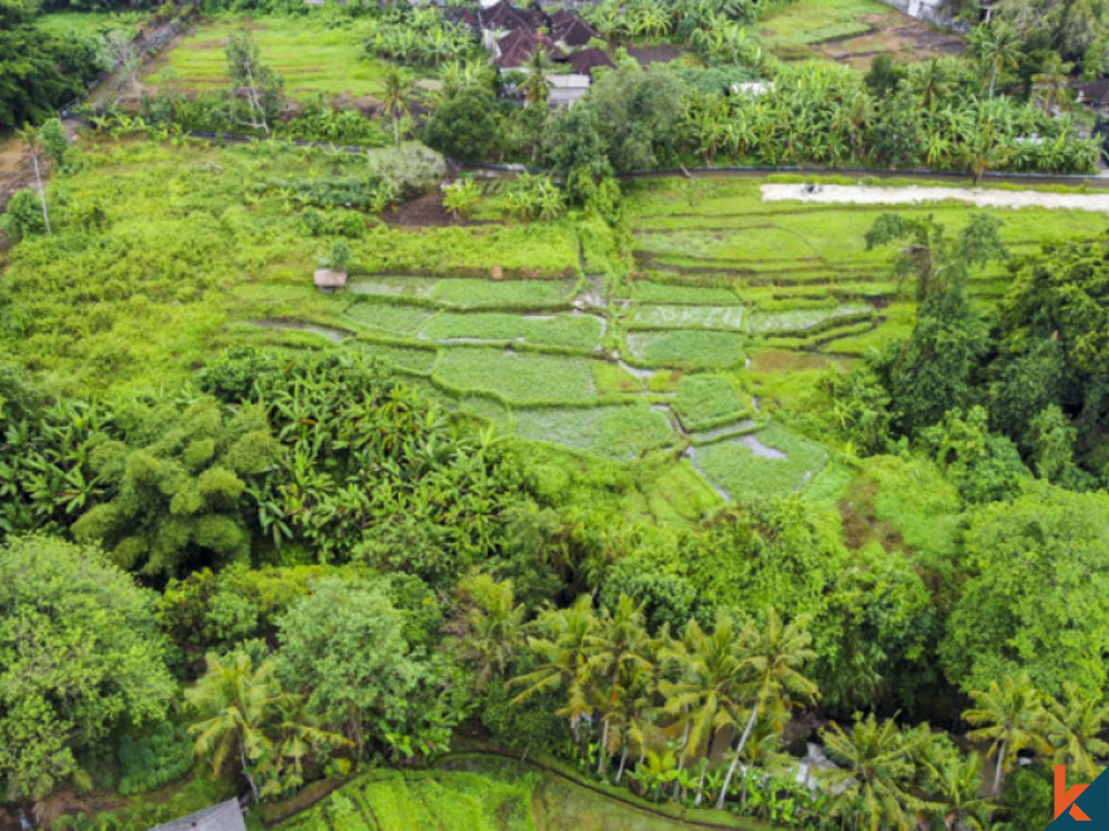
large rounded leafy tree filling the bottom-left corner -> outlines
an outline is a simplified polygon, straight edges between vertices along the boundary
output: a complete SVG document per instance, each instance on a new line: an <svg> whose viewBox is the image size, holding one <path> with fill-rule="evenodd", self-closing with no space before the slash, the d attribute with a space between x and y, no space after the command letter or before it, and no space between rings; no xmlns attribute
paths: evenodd
<svg viewBox="0 0 1109 831"><path fill-rule="evenodd" d="M173 684L153 596L93 548L48 537L0 547L0 787L41 797L87 773L118 728L165 718Z"/></svg>

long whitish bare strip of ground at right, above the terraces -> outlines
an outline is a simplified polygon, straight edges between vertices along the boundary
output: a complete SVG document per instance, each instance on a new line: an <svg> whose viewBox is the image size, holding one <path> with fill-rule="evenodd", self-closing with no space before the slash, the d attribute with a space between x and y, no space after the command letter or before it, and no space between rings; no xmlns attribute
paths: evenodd
<svg viewBox="0 0 1109 831"><path fill-rule="evenodd" d="M918 205L967 202L978 207L1067 208L1109 214L1109 193L993 191L986 187L865 187L863 185L763 185L763 202L814 202L827 205Z"/></svg>

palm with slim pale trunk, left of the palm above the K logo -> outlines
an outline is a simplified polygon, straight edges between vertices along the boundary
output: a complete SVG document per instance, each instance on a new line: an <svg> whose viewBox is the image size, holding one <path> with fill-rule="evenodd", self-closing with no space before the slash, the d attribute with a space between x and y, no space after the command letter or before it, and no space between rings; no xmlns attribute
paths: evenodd
<svg viewBox="0 0 1109 831"><path fill-rule="evenodd" d="M970 694L975 706L963 714L971 725L980 726L967 733L971 741L989 741L988 756L996 757L993 793L1001 791L1001 780L1025 749L1051 752L1044 738L1044 700L1027 676L1006 676L1001 683L989 683L989 689Z"/></svg>

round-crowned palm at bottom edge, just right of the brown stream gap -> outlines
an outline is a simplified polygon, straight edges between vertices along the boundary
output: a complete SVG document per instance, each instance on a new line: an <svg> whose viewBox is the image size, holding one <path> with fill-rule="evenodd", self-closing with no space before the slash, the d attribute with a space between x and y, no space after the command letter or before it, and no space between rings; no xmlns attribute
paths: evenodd
<svg viewBox="0 0 1109 831"><path fill-rule="evenodd" d="M832 725L821 736L828 757L840 766L821 772L830 817L871 831L916 828L923 802L909 791L913 747L893 719L878 724L873 712L865 719L856 714L849 730Z"/></svg>

